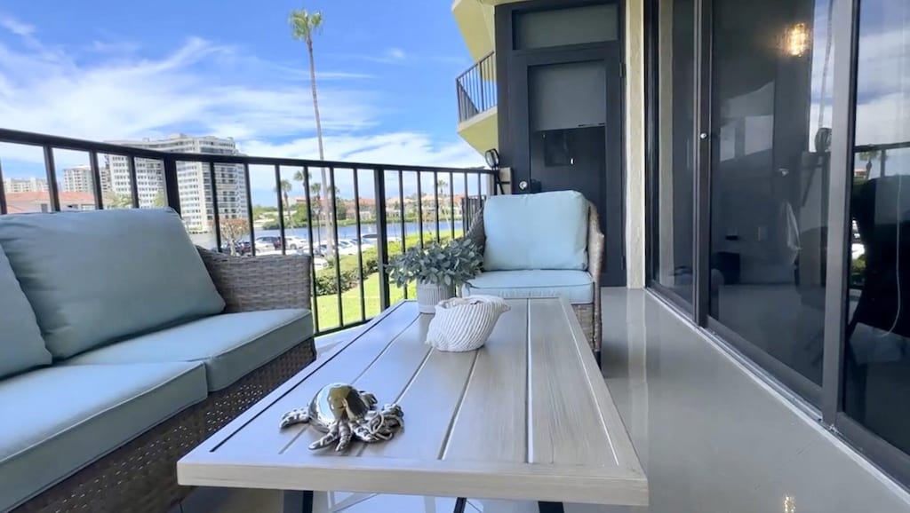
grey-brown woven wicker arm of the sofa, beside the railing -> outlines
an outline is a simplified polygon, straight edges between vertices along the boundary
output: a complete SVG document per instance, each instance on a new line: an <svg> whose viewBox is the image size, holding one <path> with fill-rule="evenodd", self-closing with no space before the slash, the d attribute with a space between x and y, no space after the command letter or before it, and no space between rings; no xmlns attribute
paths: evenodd
<svg viewBox="0 0 910 513"><path fill-rule="evenodd" d="M233 257L197 249L218 293L224 297L226 313L311 308L310 257Z"/></svg>

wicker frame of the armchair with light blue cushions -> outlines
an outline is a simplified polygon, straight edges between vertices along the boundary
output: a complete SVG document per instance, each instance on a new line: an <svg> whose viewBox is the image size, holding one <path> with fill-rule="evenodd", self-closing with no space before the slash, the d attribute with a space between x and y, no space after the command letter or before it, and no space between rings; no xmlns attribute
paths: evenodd
<svg viewBox="0 0 910 513"><path fill-rule="evenodd" d="M483 228L483 209L474 216L466 237L474 241L481 251L486 246L487 236ZM578 317L591 350L600 362L601 357L601 269L603 266L603 233L597 208L588 202L588 272L594 278L594 303L572 305L575 317Z"/></svg>

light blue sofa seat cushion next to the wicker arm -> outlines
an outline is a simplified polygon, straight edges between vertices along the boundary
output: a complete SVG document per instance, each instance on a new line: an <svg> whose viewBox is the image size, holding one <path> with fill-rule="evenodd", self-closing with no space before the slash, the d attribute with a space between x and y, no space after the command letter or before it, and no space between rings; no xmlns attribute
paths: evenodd
<svg viewBox="0 0 910 513"><path fill-rule="evenodd" d="M89 351L67 365L187 361L206 365L209 390L220 390L313 336L308 310L223 314L168 327Z"/></svg>

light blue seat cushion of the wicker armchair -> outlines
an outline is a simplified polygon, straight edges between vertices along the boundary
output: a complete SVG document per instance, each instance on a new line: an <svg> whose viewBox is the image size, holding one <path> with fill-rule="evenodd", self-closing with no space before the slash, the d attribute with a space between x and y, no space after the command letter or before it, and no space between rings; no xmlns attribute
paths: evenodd
<svg viewBox="0 0 910 513"><path fill-rule="evenodd" d="M587 271L486 271L471 279L465 291L506 299L565 297L572 305L594 302L594 280Z"/></svg>

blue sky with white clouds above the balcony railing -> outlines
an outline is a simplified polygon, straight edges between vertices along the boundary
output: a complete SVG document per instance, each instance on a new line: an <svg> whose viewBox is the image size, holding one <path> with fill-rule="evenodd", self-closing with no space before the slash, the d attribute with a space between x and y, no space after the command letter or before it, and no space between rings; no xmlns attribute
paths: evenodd
<svg viewBox="0 0 910 513"><path fill-rule="evenodd" d="M447 0L0 0L0 126L233 136L250 155L316 158L306 45L288 28L303 7L326 18L315 45L327 158L482 164L455 132L453 84L471 59ZM0 145L5 176L40 173L39 157ZM254 176L257 199L270 187Z"/></svg>

